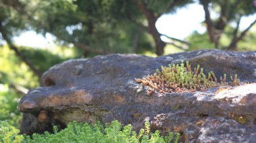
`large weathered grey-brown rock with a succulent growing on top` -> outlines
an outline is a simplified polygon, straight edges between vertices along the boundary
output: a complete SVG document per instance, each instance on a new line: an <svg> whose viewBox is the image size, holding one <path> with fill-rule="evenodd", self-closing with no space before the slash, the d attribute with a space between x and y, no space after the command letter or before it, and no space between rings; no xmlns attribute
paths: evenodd
<svg viewBox="0 0 256 143"><path fill-rule="evenodd" d="M195 93L154 93L135 78L156 68L189 60L216 77L238 74L238 87L218 87ZM67 60L50 68L41 87L22 97L21 133L51 131L72 121L95 123L119 120L139 130L146 120L162 134L181 132L185 142L255 142L256 52L199 50L150 58L110 54Z"/></svg>

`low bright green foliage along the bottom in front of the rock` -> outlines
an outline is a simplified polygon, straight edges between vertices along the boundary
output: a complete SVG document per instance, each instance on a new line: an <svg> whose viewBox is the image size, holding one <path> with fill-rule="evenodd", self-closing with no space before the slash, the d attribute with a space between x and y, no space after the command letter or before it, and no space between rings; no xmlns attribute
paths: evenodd
<svg viewBox="0 0 256 143"><path fill-rule="evenodd" d="M178 142L180 134L160 136L159 131L150 132L150 123L145 123L145 129L139 134L132 131L129 124L122 128L118 121L104 126L97 122L94 125L72 122L67 128L58 132L57 126L53 127L54 133L33 134L32 137L18 135L19 130L10 126L7 122L0 122L1 142Z"/></svg>

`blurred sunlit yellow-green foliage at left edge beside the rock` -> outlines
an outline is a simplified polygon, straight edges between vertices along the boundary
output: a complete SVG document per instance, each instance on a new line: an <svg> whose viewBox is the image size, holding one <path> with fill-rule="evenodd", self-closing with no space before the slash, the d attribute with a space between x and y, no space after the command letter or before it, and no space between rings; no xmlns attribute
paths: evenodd
<svg viewBox="0 0 256 143"><path fill-rule="evenodd" d="M21 47L21 50L42 73L54 64L75 58L76 53L71 48L60 47L51 51L29 47ZM0 121L18 128L21 114L17 107L24 94L15 87L32 89L39 86L39 79L7 46L0 47L0 55Z"/></svg>

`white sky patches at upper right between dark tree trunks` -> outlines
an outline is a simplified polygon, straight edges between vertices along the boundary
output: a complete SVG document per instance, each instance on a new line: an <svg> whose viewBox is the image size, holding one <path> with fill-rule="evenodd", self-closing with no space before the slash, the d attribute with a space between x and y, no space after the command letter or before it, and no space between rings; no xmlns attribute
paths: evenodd
<svg viewBox="0 0 256 143"><path fill-rule="evenodd" d="M216 13L212 13L211 17L217 17ZM256 19L256 13L250 17L242 17L240 30L245 30ZM199 33L206 31L202 26L205 20L203 6L193 3L183 7L174 14L162 15L156 22L156 28L161 34L183 40L195 30ZM231 23L232 26L236 26Z"/></svg>

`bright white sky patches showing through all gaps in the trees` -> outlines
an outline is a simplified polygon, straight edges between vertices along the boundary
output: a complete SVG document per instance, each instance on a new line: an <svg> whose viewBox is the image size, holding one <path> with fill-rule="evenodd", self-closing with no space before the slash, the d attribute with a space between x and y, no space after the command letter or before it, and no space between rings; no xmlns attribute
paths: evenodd
<svg viewBox="0 0 256 143"><path fill-rule="evenodd" d="M211 17L216 17L216 14L211 13ZM204 18L203 7L198 3L193 3L178 9L176 13L162 15L156 22L156 28L161 34L184 40L195 30L199 33L205 32L206 28L202 26ZM256 13L250 17L243 17L240 29L244 30L255 19ZM24 32L19 37L14 38L15 44L35 48L55 46L54 40L55 37L51 34L46 34L44 37L41 34L36 34L34 31Z"/></svg>

